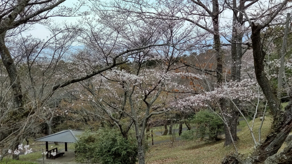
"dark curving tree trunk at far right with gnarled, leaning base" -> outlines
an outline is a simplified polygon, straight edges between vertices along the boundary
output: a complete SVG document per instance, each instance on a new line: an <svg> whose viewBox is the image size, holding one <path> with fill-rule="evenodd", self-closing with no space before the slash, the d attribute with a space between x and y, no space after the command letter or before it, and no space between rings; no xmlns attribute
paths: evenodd
<svg viewBox="0 0 292 164"><path fill-rule="evenodd" d="M286 137L289 135L292 129L292 110L291 106L287 106L285 111L281 110L281 103L276 96L276 91L270 85L270 81L265 75L265 52L262 50L260 29L258 28L258 25L254 23L251 29L256 79L269 103L270 113L273 115L270 134L252 155L253 157L257 157L253 159L253 163L260 163L260 161L264 161L269 156L277 153ZM289 104L291 104L291 102Z"/></svg>

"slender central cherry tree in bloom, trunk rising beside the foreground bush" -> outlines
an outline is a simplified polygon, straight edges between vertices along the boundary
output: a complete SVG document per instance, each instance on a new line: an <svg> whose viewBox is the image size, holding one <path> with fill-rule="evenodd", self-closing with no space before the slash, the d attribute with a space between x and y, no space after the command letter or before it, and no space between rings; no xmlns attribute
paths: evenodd
<svg viewBox="0 0 292 164"><path fill-rule="evenodd" d="M100 9L97 10L99 11ZM109 18L113 15L109 12L103 11L101 14L104 18ZM155 41L160 46L149 46L138 53L128 55L128 63L80 84L88 90L87 93L84 91L86 97L92 97L88 103L94 105L97 110L92 112L93 115L119 128L125 138L132 127L137 138L139 163L145 163L144 137L150 117L175 109L171 101L178 101L175 100L177 90L183 92L186 88L178 83L181 76L198 76L175 72L175 69L183 67L178 58L191 51L200 36L190 35L190 29L177 20L144 20L128 18L126 15L113 19L126 22L119 24L104 19L105 23L117 32L120 29L137 32L119 32L124 38L133 38L129 44L147 45ZM127 27L128 25L130 27Z"/></svg>

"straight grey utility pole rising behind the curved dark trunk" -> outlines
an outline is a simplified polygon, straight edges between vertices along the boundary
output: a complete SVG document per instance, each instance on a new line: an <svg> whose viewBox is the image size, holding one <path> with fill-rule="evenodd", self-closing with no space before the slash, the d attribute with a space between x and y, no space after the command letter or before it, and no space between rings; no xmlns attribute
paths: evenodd
<svg viewBox="0 0 292 164"><path fill-rule="evenodd" d="M281 88L282 88L282 79L284 74L284 62L285 62L285 54L286 54L286 44L287 44L287 37L288 37L288 30L290 24L290 13L287 14L286 26L285 26L285 33L283 37L283 44L281 49L281 56L280 56L280 70L278 76L278 99L281 99Z"/></svg>

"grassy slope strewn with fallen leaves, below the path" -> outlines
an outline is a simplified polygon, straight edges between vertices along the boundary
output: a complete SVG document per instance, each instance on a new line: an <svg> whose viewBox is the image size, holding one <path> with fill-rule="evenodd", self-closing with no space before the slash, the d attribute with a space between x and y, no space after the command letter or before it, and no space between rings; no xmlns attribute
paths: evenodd
<svg viewBox="0 0 292 164"><path fill-rule="evenodd" d="M262 139L267 135L272 119L266 117L262 127ZM249 121L251 123L251 121ZM257 118L254 125L254 133L258 138L258 127L260 119ZM241 121L239 127L242 129L238 133L239 142L237 149L239 153L248 155L253 152L253 140L245 121ZM147 153L148 163L152 164L201 164L201 163L220 163L221 159L234 152L233 146L223 146L224 142L211 143L206 141L176 141L171 146L170 142L154 145Z"/></svg>

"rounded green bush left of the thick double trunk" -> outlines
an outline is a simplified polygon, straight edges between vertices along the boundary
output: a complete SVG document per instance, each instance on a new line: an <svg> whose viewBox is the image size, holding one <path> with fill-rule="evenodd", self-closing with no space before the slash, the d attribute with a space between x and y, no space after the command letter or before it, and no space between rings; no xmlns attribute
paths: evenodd
<svg viewBox="0 0 292 164"><path fill-rule="evenodd" d="M199 111L192 120L197 124L197 135L205 138L206 135L211 141L220 140L219 135L224 132L224 124L222 119L210 111Z"/></svg>

